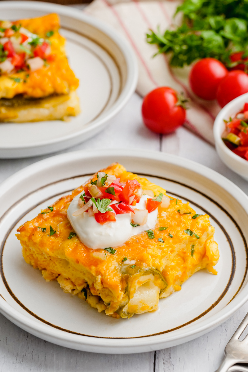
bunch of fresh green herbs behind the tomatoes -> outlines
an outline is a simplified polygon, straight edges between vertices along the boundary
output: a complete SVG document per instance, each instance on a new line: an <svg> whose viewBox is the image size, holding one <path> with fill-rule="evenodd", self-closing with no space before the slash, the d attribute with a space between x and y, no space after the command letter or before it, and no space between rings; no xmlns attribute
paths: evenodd
<svg viewBox="0 0 248 372"><path fill-rule="evenodd" d="M147 42L158 45L158 53L171 54L174 67L198 58L213 57L232 67L230 55L248 55L248 0L185 0L175 15L183 13L180 27L164 34L151 32Z"/></svg>

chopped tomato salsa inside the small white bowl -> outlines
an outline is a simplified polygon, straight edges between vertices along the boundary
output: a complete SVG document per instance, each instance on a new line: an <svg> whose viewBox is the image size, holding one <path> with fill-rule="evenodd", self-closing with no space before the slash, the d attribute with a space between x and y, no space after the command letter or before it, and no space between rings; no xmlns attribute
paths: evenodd
<svg viewBox="0 0 248 372"><path fill-rule="evenodd" d="M248 160L248 103L234 118L224 120L226 124L222 140L236 155Z"/></svg>

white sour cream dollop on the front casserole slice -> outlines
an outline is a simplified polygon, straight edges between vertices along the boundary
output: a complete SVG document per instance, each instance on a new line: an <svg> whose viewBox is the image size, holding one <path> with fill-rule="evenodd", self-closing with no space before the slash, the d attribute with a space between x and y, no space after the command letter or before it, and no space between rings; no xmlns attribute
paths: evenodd
<svg viewBox="0 0 248 372"><path fill-rule="evenodd" d="M108 248L117 247L125 243L131 236L140 234L145 230L154 228L157 218L158 209L148 214L145 225L132 227L131 213L117 214L116 221L106 224L99 224L94 216L89 217L88 212L75 217L73 213L78 210L78 194L71 201L67 210L67 218L71 222L71 226L77 233L80 241L88 248ZM148 195L143 195L135 206L132 208L145 209L146 199L150 198ZM111 207L111 205L110 205Z"/></svg>

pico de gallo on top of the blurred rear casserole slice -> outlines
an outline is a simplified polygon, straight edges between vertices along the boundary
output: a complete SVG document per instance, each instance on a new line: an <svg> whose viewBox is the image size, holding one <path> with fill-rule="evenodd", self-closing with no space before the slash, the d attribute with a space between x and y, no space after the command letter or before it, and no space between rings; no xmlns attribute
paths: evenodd
<svg viewBox="0 0 248 372"><path fill-rule="evenodd" d="M10 74L20 71L36 71L54 60L49 38L40 38L20 24L0 21L0 72Z"/></svg>

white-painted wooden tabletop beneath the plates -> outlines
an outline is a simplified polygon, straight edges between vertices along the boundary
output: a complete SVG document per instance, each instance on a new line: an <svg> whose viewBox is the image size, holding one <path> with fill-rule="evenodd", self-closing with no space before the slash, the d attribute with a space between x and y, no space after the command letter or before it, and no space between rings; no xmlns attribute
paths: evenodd
<svg viewBox="0 0 248 372"><path fill-rule="evenodd" d="M204 164L232 180L248 193L248 183L229 170L215 148L179 128L160 138L142 124L142 99L133 94L103 132L68 151L87 148L141 148L180 155ZM48 155L48 157L51 155ZM0 160L0 182L42 158ZM248 312L248 303L215 330L193 341L157 352L104 355L80 352L38 339L0 314L0 372L214 372L226 343Z"/></svg>

